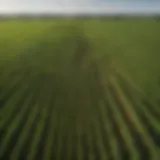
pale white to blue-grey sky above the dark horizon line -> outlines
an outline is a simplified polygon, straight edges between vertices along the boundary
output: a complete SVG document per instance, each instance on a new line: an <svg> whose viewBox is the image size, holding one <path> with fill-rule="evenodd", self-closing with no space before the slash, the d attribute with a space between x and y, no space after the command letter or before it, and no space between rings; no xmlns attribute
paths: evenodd
<svg viewBox="0 0 160 160"><path fill-rule="evenodd" d="M0 13L160 13L159 0L0 0Z"/></svg>

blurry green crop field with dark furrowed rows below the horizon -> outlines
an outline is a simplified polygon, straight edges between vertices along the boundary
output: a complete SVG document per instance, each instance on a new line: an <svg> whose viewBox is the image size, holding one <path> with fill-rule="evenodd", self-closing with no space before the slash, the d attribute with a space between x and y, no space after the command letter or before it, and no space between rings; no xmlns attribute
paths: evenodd
<svg viewBox="0 0 160 160"><path fill-rule="evenodd" d="M0 160L159 160L160 22L0 22Z"/></svg>

